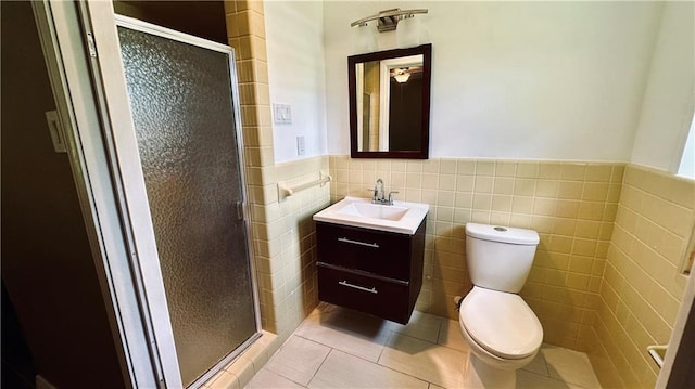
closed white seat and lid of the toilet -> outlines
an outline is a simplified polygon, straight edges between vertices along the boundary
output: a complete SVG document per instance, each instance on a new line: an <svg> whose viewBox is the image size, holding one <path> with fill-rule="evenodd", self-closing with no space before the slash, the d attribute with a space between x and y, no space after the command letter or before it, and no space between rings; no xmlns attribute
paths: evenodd
<svg viewBox="0 0 695 389"><path fill-rule="evenodd" d="M459 320L488 352L519 360L538 351L543 327L518 295L473 286L460 304Z"/></svg>

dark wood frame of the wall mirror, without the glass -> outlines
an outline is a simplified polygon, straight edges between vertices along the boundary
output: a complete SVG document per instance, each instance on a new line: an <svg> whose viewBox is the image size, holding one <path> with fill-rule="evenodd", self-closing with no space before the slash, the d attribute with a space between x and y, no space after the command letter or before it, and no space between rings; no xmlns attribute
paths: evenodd
<svg viewBox="0 0 695 389"><path fill-rule="evenodd" d="M383 61L410 55L422 55L422 100L420 120L420 150L413 151L358 151L357 147L357 77L356 64ZM348 57L348 88L350 92L350 156L352 158L427 159L430 141L430 85L432 74L432 44L408 49L394 49Z"/></svg>

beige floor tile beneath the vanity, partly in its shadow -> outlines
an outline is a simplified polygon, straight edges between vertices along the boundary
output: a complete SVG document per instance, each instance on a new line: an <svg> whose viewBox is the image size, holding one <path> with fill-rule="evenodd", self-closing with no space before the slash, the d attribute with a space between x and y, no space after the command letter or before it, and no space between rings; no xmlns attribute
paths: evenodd
<svg viewBox="0 0 695 389"><path fill-rule="evenodd" d="M387 321L346 309L318 310L294 335L377 362L391 332Z"/></svg>

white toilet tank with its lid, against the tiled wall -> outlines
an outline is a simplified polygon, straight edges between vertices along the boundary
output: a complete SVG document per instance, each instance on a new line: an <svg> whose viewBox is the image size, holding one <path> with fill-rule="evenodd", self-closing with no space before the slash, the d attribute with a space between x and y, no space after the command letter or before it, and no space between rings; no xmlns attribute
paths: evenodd
<svg viewBox="0 0 695 389"><path fill-rule="evenodd" d="M533 230L466 224L466 262L473 285L518 293L531 271L540 242Z"/></svg>

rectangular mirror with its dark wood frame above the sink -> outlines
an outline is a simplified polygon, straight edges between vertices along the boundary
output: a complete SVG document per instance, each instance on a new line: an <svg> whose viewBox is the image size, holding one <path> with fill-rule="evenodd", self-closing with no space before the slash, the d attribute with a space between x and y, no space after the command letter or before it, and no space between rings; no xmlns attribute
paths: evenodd
<svg viewBox="0 0 695 389"><path fill-rule="evenodd" d="M427 159L432 44L348 57L353 158Z"/></svg>

